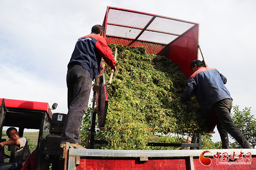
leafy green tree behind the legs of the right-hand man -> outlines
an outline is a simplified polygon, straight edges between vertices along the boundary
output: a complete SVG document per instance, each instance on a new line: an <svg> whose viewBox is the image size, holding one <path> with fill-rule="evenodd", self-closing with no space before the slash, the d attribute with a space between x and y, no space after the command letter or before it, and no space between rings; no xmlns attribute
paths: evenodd
<svg viewBox="0 0 256 170"><path fill-rule="evenodd" d="M244 134L249 144L255 148L256 145L256 119L251 115L250 108L245 107L243 111L239 111L239 106L234 106L234 114L231 114L234 124ZM234 139L232 136L230 136ZM236 141L230 144L231 148L241 148Z"/></svg>

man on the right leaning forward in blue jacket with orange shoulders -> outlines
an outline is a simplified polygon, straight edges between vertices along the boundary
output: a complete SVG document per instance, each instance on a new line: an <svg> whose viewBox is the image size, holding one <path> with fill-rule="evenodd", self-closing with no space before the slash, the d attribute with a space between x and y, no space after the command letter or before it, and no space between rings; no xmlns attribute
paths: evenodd
<svg viewBox="0 0 256 170"><path fill-rule="evenodd" d="M236 139L242 148L252 148L231 119L232 98L224 86L227 83L227 78L215 68L203 67L200 60L194 60L190 68L194 74L188 79L188 86L185 87L180 98L189 100L195 94L205 116L212 107L214 108L220 121L217 124L217 129L220 133L222 149L229 148L228 133Z"/></svg>

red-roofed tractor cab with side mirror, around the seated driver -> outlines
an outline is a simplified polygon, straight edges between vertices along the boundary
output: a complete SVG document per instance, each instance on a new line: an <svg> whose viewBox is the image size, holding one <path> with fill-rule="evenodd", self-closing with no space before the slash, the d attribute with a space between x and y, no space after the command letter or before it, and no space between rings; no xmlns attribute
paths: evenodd
<svg viewBox="0 0 256 170"><path fill-rule="evenodd" d="M57 107L57 103L50 108L44 102L12 99L0 101L0 141L6 140L2 139L3 127L17 128L20 137L23 137L24 129L38 129L35 169L48 169L50 163L52 166L54 163L59 164L62 160L60 139L66 114L52 114L51 110Z"/></svg>

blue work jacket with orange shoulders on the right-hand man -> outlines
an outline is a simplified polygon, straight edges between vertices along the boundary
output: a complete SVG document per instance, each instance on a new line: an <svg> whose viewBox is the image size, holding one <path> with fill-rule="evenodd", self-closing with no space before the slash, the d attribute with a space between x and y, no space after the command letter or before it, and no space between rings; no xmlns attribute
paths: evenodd
<svg viewBox="0 0 256 170"><path fill-rule="evenodd" d="M227 78L217 69L200 67L188 79L188 86L185 87L180 98L189 100L195 94L196 100L206 116L217 101L232 99L224 85L226 83Z"/></svg>

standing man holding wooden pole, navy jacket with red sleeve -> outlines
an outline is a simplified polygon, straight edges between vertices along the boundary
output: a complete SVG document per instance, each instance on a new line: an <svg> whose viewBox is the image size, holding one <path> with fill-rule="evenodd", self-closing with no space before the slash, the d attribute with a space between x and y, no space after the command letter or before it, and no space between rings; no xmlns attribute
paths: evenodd
<svg viewBox="0 0 256 170"><path fill-rule="evenodd" d="M113 52L103 38L103 31L102 26L95 25L91 34L79 38L68 63L68 114L63 126L61 148L66 142L75 148L83 148L80 146L79 132L88 106L92 80L102 68L102 58L112 69L116 68Z"/></svg>

